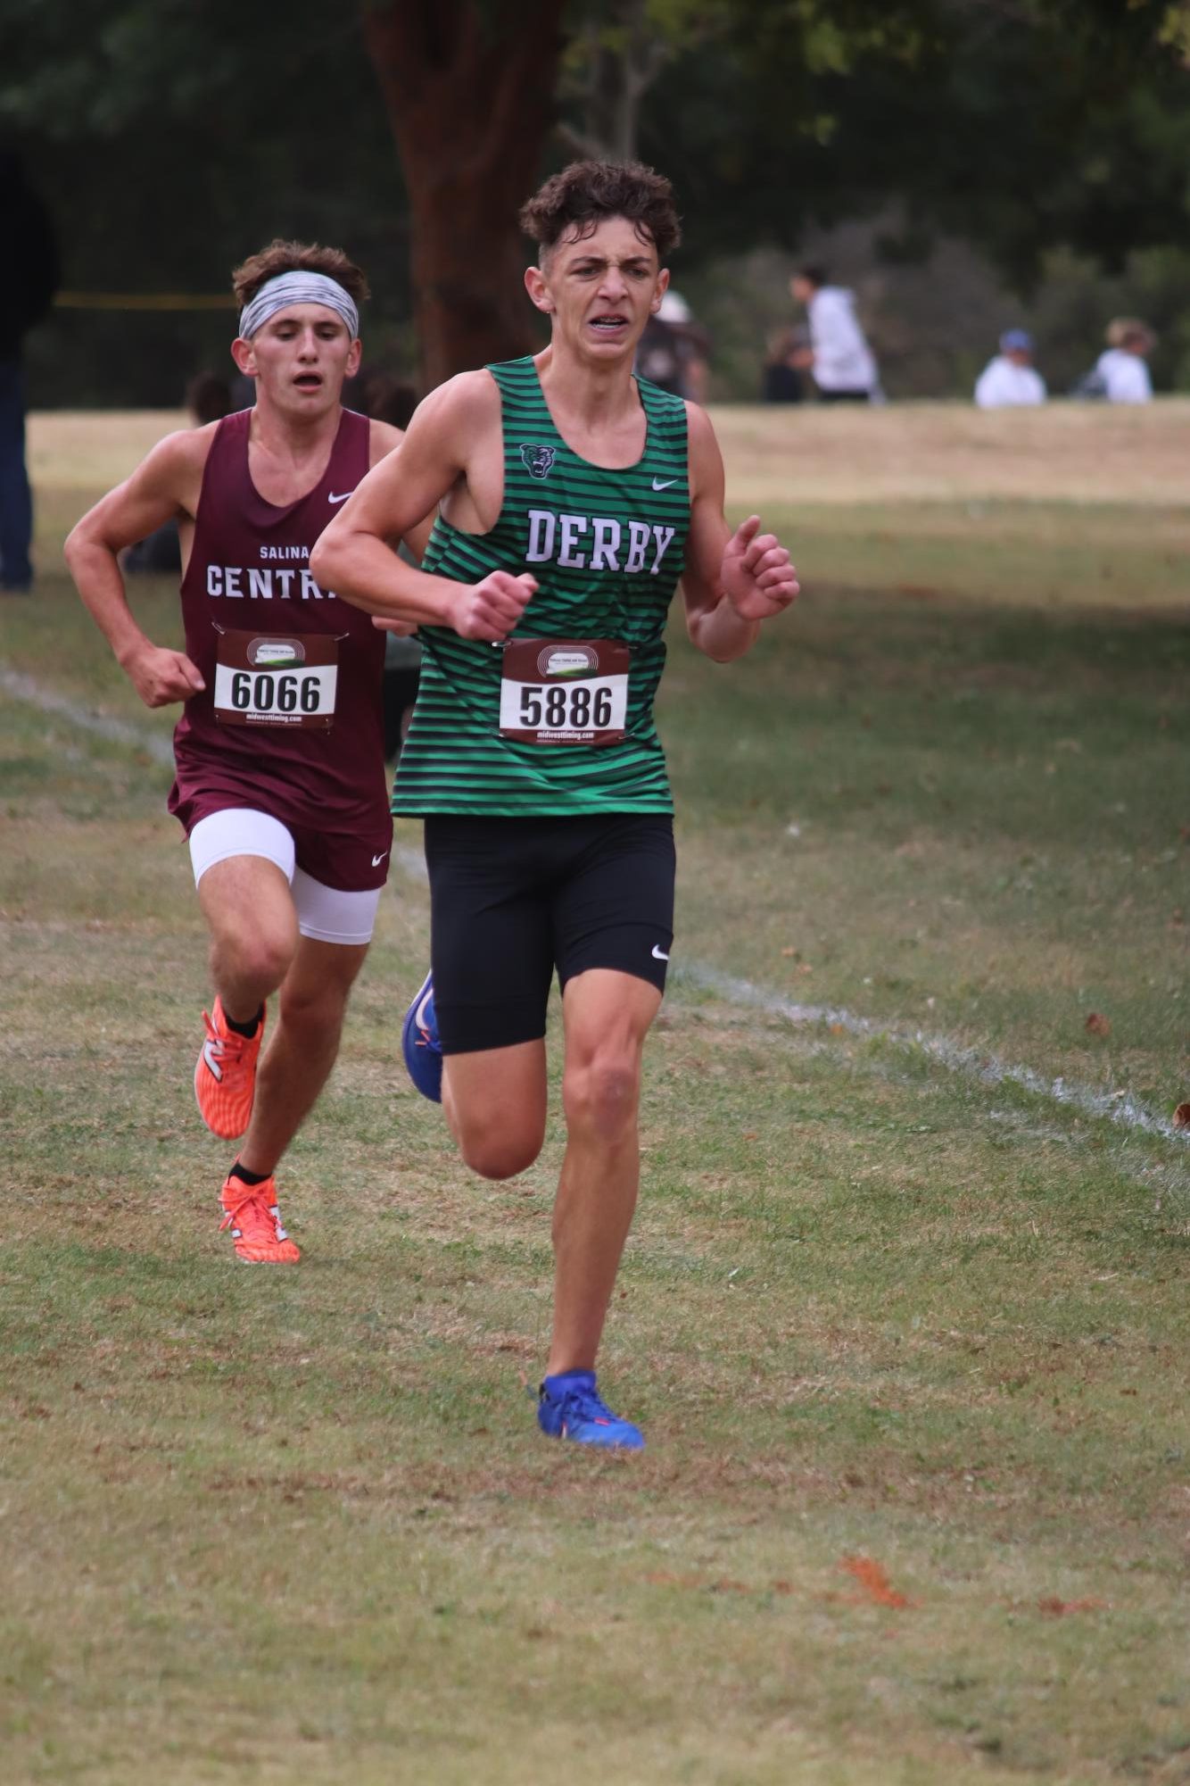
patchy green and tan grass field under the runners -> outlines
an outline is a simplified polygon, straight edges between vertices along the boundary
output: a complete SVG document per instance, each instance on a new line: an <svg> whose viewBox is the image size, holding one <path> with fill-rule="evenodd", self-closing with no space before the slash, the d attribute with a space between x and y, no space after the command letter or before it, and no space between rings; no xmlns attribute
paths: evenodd
<svg viewBox="0 0 1190 1786"><path fill-rule="evenodd" d="M5 1786L1190 1781L1188 421L721 418L806 593L744 664L673 639L680 934L603 1361L649 1450L591 1457L526 1395L560 1132L471 1181L396 1064L409 866L285 1166L302 1266L216 1234L171 716L54 568L162 418L34 418Z"/></svg>

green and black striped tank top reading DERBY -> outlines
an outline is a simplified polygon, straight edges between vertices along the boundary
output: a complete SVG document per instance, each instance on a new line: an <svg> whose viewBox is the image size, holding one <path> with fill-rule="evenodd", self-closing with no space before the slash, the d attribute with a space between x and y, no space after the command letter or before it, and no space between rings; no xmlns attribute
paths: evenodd
<svg viewBox="0 0 1190 1786"><path fill-rule="evenodd" d="M630 648L624 738L537 745L500 732L501 647L421 627L414 720L393 811L494 818L673 813L653 697L662 632L690 525L687 418L678 396L637 380L644 454L608 472L558 434L532 359L487 368L500 386L505 495L487 534L434 525L423 570L478 582L492 570L539 584L516 639L617 639Z"/></svg>

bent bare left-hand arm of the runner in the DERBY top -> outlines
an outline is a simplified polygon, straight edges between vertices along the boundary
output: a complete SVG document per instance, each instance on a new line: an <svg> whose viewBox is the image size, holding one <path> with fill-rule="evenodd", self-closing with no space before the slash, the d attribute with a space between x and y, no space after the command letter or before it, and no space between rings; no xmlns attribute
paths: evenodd
<svg viewBox="0 0 1190 1786"><path fill-rule="evenodd" d="M405 439L376 464L310 554L323 589L366 614L453 627L464 639L503 639L537 589L532 577L492 572L482 582L434 577L396 555L439 502L466 480L476 413L491 402L487 373L466 371L419 405Z"/></svg>

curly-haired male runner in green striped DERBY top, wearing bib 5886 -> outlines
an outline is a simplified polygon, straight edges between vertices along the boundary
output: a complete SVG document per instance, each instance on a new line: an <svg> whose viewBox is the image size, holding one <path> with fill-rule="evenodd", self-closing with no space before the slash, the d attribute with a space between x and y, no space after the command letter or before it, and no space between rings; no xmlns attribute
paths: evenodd
<svg viewBox="0 0 1190 1786"><path fill-rule="evenodd" d="M405 1059L485 1177L541 1150L558 972L567 1147L539 1423L639 1448L594 1363L637 1200L640 1054L673 941L673 800L653 727L662 630L682 579L694 645L726 663L797 582L756 516L730 532L707 414L633 379L678 241L669 182L637 163L576 163L521 223L541 246L525 284L550 346L434 391L312 568L368 613L421 625L394 811L425 816L434 968ZM435 504L425 568L401 564L387 541Z"/></svg>

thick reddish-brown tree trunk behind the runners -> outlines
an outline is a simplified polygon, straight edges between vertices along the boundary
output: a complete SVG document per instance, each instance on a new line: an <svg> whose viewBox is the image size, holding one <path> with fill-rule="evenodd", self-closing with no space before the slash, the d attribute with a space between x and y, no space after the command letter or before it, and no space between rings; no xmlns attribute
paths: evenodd
<svg viewBox="0 0 1190 1786"><path fill-rule="evenodd" d="M410 205L426 389L535 345L517 211L553 123L564 0L364 0Z"/></svg>

